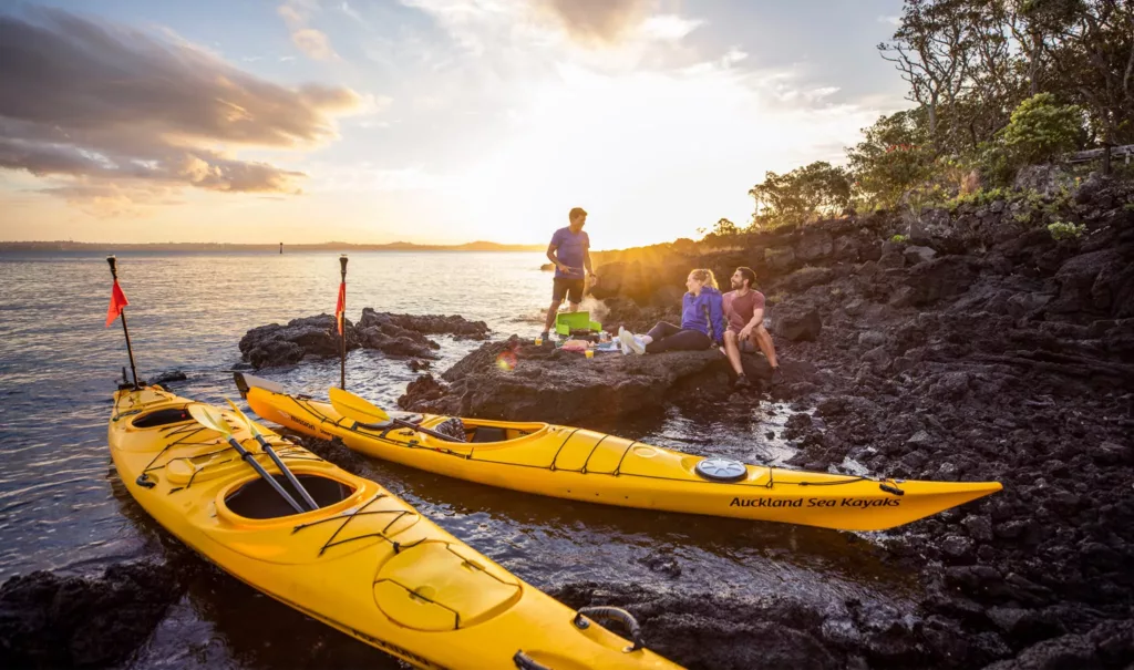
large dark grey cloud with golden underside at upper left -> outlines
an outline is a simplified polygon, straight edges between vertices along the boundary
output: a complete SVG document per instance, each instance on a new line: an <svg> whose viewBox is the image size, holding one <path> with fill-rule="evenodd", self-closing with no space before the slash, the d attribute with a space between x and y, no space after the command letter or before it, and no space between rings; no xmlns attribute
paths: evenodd
<svg viewBox="0 0 1134 670"><path fill-rule="evenodd" d="M0 16L0 170L71 179L48 193L116 203L147 188L296 193L303 173L238 159L338 137L373 104L348 88L286 88L181 41L43 9Z"/></svg>

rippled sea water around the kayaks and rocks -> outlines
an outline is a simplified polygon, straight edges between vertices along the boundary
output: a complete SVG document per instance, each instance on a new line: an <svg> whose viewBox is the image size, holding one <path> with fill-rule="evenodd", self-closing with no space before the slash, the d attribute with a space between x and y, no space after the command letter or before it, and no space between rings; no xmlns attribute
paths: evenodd
<svg viewBox="0 0 1134 670"><path fill-rule="evenodd" d="M119 254L139 375L178 368L179 395L238 399L231 367L249 329L331 313L336 253ZM531 253L350 255L347 315L364 306L483 320L494 338L534 336L550 274ZM104 328L110 273L101 254L0 255L0 579L35 569L99 573L162 552L161 529L118 481L107 448L110 398L127 364L121 326ZM476 346L437 337L443 371ZM256 374L325 396L336 359ZM372 351L348 358L347 383L393 406L416 375ZM669 413L619 433L692 452L765 458L784 444L782 409L713 422ZM796 593L891 601L911 585L844 534L574 503L367 460L364 476L539 587L595 580L687 593ZM196 560L196 559L193 559ZM659 569L659 566L662 566ZM205 570L139 651L136 667L398 667L380 652ZM898 595L895 595L898 594ZM891 601L892 602L892 601ZM268 619L273 627L249 627ZM286 634L280 631L286 629ZM649 631L646 631L649 634Z"/></svg>

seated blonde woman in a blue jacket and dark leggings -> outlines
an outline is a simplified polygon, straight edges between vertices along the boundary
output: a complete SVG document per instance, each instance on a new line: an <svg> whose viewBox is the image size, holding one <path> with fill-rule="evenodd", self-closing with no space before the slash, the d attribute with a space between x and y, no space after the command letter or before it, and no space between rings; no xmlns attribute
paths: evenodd
<svg viewBox="0 0 1134 670"><path fill-rule="evenodd" d="M689 289L682 297L682 326L659 322L644 336L618 328L623 354L692 351L720 346L725 338L725 308L712 270L694 270L685 279Z"/></svg>

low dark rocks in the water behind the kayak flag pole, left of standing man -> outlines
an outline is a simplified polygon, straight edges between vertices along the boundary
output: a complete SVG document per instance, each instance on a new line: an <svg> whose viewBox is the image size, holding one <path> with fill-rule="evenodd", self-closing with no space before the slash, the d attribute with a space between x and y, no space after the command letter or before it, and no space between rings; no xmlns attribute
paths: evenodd
<svg viewBox="0 0 1134 670"><path fill-rule="evenodd" d="M483 340L489 332L483 321L467 321L463 316L390 314L370 307L363 308L357 325L345 319L344 328L348 351L364 347L391 356L425 359L437 358L433 351L440 348L426 334ZM253 367L291 365L305 356L339 356L342 336L335 316L320 314L293 319L287 325L272 323L254 328L240 339L239 347L240 355Z"/></svg>

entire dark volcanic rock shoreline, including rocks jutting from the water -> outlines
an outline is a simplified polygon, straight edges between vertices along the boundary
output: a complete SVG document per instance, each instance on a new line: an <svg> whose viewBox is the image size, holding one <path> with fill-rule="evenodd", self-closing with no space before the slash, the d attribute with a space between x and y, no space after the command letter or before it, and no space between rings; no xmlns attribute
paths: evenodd
<svg viewBox="0 0 1134 670"><path fill-rule="evenodd" d="M1082 237L1055 239L1044 223L1056 217L1083 224ZM695 415L771 399L814 409L787 425L795 466L1004 483L996 495L869 538L894 570L917 576L922 595L911 611L617 584L549 591L573 607L627 608L646 644L687 668L1128 668L1134 187L1093 178L1068 200L960 205L913 223L881 212L741 237L727 248L682 243L599 258L603 323L638 331L676 317L688 269L726 278L753 266L787 372L760 393L734 392L711 351L585 361L517 338L422 375L399 405L586 425L671 402ZM370 311L348 324L348 346L428 359L426 334L488 338L459 317L407 319ZM255 366L337 355L333 317L256 329L240 350ZM762 358L748 365L767 376ZM313 448L349 460L340 447ZM9 579L0 588L0 660L112 664L113 650L91 647L59 624L87 616L65 604L109 602L130 613L132 584L151 578L178 588L176 576L152 568ZM82 595L103 593L111 595ZM120 653L159 616L151 605L117 636ZM105 609L104 619L118 616Z"/></svg>

